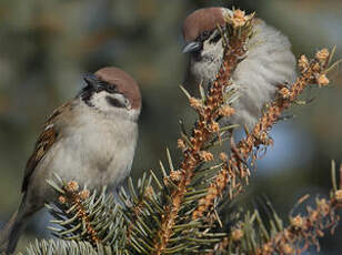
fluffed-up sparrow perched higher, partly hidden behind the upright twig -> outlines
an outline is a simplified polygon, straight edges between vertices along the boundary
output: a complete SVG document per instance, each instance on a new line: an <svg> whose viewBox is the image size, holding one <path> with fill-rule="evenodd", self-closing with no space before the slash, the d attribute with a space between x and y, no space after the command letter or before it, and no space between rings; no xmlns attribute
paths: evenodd
<svg viewBox="0 0 342 255"><path fill-rule="evenodd" d="M223 63L223 39L218 28L224 27L224 17L233 11L223 7L198 9L183 22L185 42L183 53L189 53L184 86L195 91L199 84L208 91ZM231 75L234 90L231 103L235 113L223 119L223 124L238 124L251 130L270 103L279 86L292 84L296 78L295 58L289 39L263 20L256 19L252 37L245 43L245 54ZM228 38L229 40L229 38Z"/></svg>

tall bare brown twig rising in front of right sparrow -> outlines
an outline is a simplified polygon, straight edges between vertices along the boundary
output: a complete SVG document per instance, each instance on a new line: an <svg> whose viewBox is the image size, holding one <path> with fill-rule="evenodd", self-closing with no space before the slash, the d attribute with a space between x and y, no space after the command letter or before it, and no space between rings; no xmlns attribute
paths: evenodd
<svg viewBox="0 0 342 255"><path fill-rule="evenodd" d="M194 108L199 114L199 120L192 131L192 136L189 139L191 144L187 145L182 139L178 141L179 146L183 151L183 160L179 170L171 171L170 173L170 176L177 176L177 178L170 177L174 181L177 188L174 188L171 194L171 203L164 206L165 213L162 215L161 228L157 233L154 239L153 254L159 255L168 247L170 236L173 233L172 227L178 218L178 213L183 202L187 188L193 177L195 167L202 162L213 160L212 154L208 151L203 151L203 147L205 143L218 133L219 124L215 120L224 114L229 115L233 113L233 110L228 105L223 108L221 106L224 104L224 88L228 85L231 73L240 61L240 57L245 53L243 45L249 37L250 31L248 30L252 26L253 17L247 16L244 18L244 22L239 23L240 27L235 28L240 29L241 33L239 35L237 33L235 37L232 37L229 47L227 47L227 58L217 75L217 81L209 90L209 95L205 102L203 103L201 100L194 98L189 99L190 105ZM165 184L168 185L168 182L165 182Z"/></svg>

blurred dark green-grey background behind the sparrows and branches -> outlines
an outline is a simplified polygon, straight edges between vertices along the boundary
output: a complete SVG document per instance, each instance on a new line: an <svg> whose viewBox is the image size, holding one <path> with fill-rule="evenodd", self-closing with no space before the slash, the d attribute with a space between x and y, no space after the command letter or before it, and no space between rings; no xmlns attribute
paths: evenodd
<svg viewBox="0 0 342 255"><path fill-rule="evenodd" d="M139 82L143 110L133 175L158 170L164 149L177 152L178 120L188 119L179 91L185 67L181 24L191 11L209 6L239 7L288 34L296 57L336 45L342 58L341 0L30 0L0 1L0 221L17 210L23 167L40 128L54 108L82 86L81 75L117 65ZM330 161L342 159L342 75L312 89L305 106L272 131L274 146L259 162L249 195L261 194L286 217L302 195L328 195ZM188 125L191 121L185 121ZM254 200L254 198L251 198ZM20 241L47 231L36 217ZM341 254L342 228L323 238L322 254ZM340 241L340 242L339 242Z"/></svg>

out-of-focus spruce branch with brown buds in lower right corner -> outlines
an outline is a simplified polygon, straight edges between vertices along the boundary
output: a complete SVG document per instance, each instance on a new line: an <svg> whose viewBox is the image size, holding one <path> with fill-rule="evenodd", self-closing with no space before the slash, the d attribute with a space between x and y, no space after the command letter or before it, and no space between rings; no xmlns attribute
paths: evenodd
<svg viewBox="0 0 342 255"><path fill-rule="evenodd" d="M333 234L340 220L338 210L342 208L342 164L340 166L340 184L336 182L336 170L332 163L332 191L331 198L316 198L315 208L306 206L306 215L290 214L290 224L284 227L276 212L266 202L271 210L269 218L270 227L266 227L261 220L259 212L249 212L244 218L230 227L229 235L215 244L213 249L207 255L214 254L302 254L310 246L315 245L320 249L319 238L324 235L324 231L330 230ZM294 208L303 204L309 195L301 197Z"/></svg>

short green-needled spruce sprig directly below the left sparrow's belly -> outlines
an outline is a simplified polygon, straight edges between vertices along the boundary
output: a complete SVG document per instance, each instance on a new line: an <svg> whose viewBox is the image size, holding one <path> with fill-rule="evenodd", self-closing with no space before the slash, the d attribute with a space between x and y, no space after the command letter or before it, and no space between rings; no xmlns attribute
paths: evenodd
<svg viewBox="0 0 342 255"><path fill-rule="evenodd" d="M51 222L60 228L49 227L52 233L62 239L86 241L93 247L113 245L121 251L125 233L123 216L113 196L105 194L107 188L90 194L87 188L80 191L74 181L66 183L57 175L56 180L49 180L49 184L60 196L47 207L56 218Z"/></svg>

